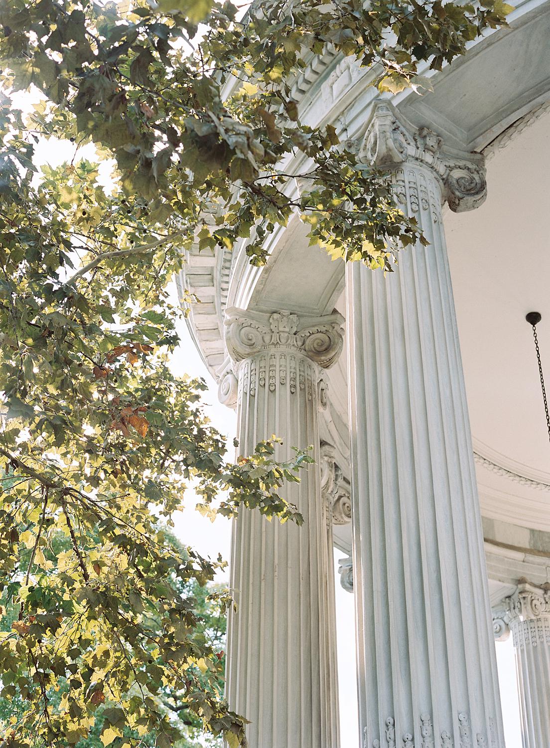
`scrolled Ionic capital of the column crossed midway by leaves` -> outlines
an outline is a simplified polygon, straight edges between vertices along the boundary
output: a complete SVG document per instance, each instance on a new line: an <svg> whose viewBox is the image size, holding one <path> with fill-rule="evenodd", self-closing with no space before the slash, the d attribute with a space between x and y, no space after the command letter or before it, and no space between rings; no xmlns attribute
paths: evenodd
<svg viewBox="0 0 550 748"><path fill-rule="evenodd" d="M226 310L226 346L235 368L262 351L283 350L306 356L318 366L331 367L342 352L344 318L298 316L288 311L264 314Z"/></svg>

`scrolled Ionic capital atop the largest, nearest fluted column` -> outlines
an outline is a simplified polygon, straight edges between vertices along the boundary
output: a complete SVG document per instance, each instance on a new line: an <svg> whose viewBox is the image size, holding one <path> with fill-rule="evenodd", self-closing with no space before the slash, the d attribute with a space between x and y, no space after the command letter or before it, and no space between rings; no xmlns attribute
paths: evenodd
<svg viewBox="0 0 550 748"><path fill-rule="evenodd" d="M374 102L359 161L380 168L418 164L429 168L442 188L442 199L454 212L477 208L486 198L484 158L442 146L427 127L415 129L385 99Z"/></svg>

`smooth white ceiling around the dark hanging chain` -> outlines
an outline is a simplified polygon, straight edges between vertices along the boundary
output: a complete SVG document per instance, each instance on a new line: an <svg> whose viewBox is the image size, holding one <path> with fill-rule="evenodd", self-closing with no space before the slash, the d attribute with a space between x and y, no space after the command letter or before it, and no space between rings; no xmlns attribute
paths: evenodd
<svg viewBox="0 0 550 748"><path fill-rule="evenodd" d="M498 151L481 208L445 215L475 447L550 482L550 441L531 327L550 393L550 114ZM550 494L548 494L550 502Z"/></svg>

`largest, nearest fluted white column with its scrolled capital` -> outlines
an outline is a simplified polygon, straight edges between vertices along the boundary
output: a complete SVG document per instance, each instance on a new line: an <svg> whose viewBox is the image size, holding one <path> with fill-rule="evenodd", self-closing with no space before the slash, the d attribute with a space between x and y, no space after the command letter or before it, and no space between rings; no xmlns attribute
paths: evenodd
<svg viewBox="0 0 550 748"><path fill-rule="evenodd" d="M386 277L347 266L353 589L365 748L502 748L481 516L442 200L485 197L482 157L448 153L387 102L360 150L392 171L430 245ZM475 272L472 269L472 272Z"/></svg>

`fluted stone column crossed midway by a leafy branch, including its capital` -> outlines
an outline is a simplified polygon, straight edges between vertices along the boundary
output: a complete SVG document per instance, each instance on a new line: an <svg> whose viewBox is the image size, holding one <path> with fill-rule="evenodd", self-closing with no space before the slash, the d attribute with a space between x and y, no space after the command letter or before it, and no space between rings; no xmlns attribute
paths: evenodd
<svg viewBox="0 0 550 748"><path fill-rule="evenodd" d="M342 317L226 312L226 345L238 376L238 451L271 435L314 448L315 465L282 489L303 525L245 510L232 536L226 692L250 720L250 748L337 748L339 710L333 551L321 499L318 410L324 367L342 350ZM232 376L232 375L229 375ZM222 383L221 390L230 391Z"/></svg>

